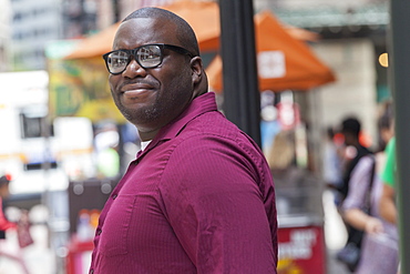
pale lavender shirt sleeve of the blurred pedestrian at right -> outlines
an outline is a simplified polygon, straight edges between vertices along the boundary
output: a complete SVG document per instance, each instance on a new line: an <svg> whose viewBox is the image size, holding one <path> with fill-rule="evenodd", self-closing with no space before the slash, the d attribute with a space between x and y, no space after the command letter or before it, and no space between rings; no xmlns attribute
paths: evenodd
<svg viewBox="0 0 410 274"><path fill-rule="evenodd" d="M372 163L373 161L370 156L363 156L352 170L349 181L349 192L341 205L344 211L351 209L362 210L365 207L366 195L369 191L371 180Z"/></svg>

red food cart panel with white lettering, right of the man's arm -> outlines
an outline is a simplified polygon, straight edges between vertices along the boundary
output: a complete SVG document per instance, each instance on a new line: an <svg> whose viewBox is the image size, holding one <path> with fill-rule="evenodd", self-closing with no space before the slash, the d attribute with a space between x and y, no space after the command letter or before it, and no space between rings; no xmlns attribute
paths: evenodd
<svg viewBox="0 0 410 274"><path fill-rule="evenodd" d="M325 274L326 247L321 226L279 227L278 274Z"/></svg>

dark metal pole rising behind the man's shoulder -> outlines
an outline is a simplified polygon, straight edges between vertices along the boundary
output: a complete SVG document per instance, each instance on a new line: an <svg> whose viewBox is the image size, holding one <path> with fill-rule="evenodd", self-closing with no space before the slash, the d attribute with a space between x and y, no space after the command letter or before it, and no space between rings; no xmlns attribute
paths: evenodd
<svg viewBox="0 0 410 274"><path fill-rule="evenodd" d="M260 146L253 1L221 0L219 9L224 111Z"/></svg>

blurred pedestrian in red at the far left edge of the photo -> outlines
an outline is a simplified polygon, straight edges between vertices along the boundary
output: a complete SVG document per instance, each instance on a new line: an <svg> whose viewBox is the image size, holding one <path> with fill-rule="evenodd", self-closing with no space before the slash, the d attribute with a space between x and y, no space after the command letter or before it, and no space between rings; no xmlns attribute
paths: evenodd
<svg viewBox="0 0 410 274"><path fill-rule="evenodd" d="M3 200L7 199L10 195L9 191L9 184L11 181L11 175L6 174L0 176L0 257L7 257L10 260L16 261L20 264L22 271L25 274L29 274L29 270L25 266L23 256L21 254L21 250L19 248L17 254L13 254L9 251L7 251L7 247L4 246L6 241L6 232L10 229L17 229L17 224L10 222L3 212Z"/></svg>

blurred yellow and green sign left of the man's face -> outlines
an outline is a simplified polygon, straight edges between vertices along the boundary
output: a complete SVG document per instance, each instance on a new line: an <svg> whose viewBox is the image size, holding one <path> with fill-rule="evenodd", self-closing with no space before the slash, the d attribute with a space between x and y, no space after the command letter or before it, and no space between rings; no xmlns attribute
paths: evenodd
<svg viewBox="0 0 410 274"><path fill-rule="evenodd" d="M101 57L50 59L49 75L51 118L85 116L93 122L125 122L111 98L107 71Z"/></svg>

